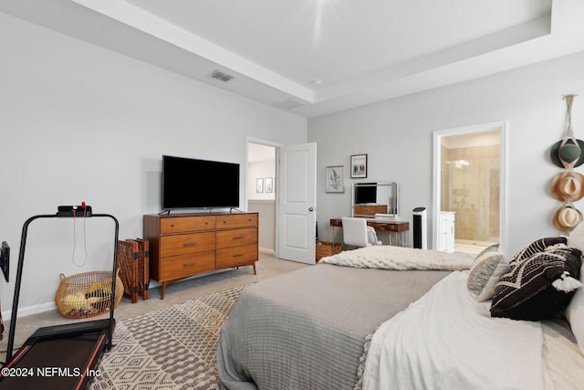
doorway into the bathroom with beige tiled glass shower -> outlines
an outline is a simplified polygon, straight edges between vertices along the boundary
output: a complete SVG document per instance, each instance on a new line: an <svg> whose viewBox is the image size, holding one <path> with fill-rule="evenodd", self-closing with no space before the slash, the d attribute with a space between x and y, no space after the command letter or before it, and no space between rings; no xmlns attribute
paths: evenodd
<svg viewBox="0 0 584 390"><path fill-rule="evenodd" d="M505 123L434 132L434 248L479 253L505 227Z"/></svg>

